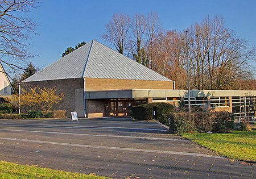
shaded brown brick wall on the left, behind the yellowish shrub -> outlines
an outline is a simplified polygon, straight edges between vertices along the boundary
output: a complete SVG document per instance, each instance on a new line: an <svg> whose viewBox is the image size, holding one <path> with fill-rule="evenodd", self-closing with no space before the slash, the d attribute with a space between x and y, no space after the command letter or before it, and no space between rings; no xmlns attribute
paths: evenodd
<svg viewBox="0 0 256 179"><path fill-rule="evenodd" d="M57 93L64 93L63 100L60 104L53 106L52 110L66 110L69 116L71 111L75 111L76 107L76 89L84 88L84 79L76 78L65 80L49 80L49 81L35 81L35 82L23 82L21 88L26 86L39 86L40 88L52 88L56 87ZM82 98L82 96L81 96Z"/></svg>

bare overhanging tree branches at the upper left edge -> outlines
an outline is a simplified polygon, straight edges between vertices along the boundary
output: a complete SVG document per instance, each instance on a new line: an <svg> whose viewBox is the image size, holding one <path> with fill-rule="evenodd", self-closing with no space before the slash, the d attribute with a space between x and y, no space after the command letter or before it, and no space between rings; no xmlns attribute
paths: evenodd
<svg viewBox="0 0 256 179"><path fill-rule="evenodd" d="M35 23L26 13L35 8L34 0L0 1L0 61L11 69L23 69L32 57L27 43Z"/></svg>

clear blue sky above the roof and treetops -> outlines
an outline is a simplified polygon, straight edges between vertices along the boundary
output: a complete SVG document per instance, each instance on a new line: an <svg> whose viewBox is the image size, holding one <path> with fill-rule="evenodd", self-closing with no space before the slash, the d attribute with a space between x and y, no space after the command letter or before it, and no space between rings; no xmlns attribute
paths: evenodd
<svg viewBox="0 0 256 179"><path fill-rule="evenodd" d="M67 47L75 47L81 41L101 39L105 24L115 13L133 15L154 11L166 30L184 30L205 16L220 15L225 26L238 36L256 45L256 1L171 1L171 0L42 0L30 15L38 23L29 40L32 51L38 55L32 59L42 68L59 60ZM255 63L253 63L254 66Z"/></svg>

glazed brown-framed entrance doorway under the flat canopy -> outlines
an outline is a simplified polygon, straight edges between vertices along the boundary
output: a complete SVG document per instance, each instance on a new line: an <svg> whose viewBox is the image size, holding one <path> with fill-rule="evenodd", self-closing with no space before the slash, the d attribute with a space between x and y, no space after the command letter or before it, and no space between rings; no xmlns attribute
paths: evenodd
<svg viewBox="0 0 256 179"><path fill-rule="evenodd" d="M105 102L105 116L131 116L133 106L146 104L145 99L107 99Z"/></svg>

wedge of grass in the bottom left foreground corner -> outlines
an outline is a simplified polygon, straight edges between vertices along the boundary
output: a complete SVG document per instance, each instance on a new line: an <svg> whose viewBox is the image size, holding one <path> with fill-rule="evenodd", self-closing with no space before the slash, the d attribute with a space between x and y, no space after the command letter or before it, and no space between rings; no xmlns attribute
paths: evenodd
<svg viewBox="0 0 256 179"><path fill-rule="evenodd" d="M106 177L90 176L88 174L64 172L36 166L18 165L0 161L0 178L86 178L105 179Z"/></svg>

